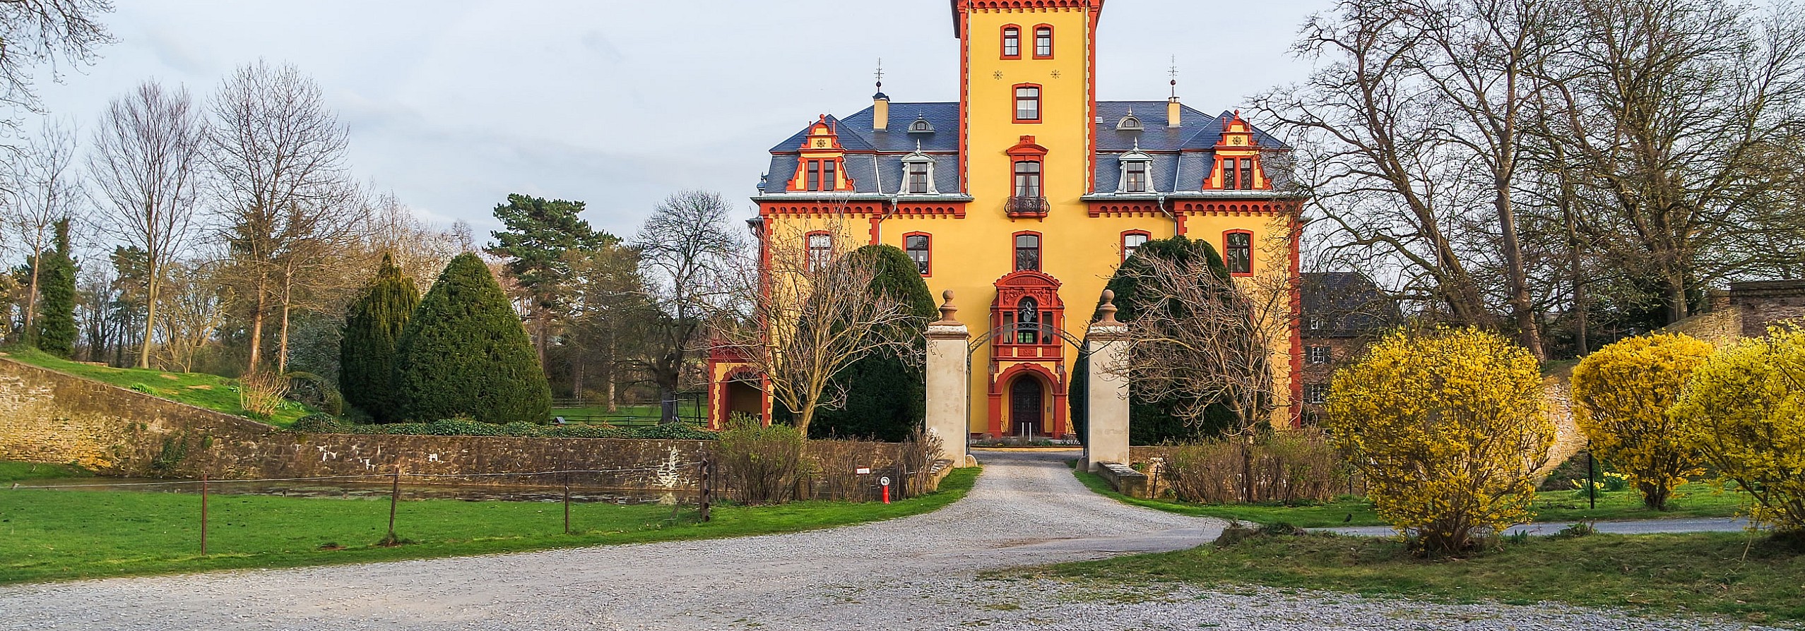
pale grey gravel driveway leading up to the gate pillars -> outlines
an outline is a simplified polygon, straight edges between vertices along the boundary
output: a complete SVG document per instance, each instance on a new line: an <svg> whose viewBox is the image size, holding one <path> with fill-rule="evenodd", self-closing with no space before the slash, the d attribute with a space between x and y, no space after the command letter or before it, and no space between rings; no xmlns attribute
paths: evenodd
<svg viewBox="0 0 1805 631"><path fill-rule="evenodd" d="M1085 490L1076 453L978 453L973 492L821 532L0 588L7 629L1697 629L1614 611L1110 590L978 570L1189 548L1220 523ZM1740 627L1740 626L1727 626Z"/></svg>

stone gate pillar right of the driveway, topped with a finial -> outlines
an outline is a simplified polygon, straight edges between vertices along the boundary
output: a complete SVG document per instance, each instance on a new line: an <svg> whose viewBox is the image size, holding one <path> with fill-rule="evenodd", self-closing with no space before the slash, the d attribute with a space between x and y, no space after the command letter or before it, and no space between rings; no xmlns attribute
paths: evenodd
<svg viewBox="0 0 1805 631"><path fill-rule="evenodd" d="M1090 325L1090 370L1085 382L1085 471L1128 463L1128 325L1115 321L1115 292L1103 290L1101 319Z"/></svg>

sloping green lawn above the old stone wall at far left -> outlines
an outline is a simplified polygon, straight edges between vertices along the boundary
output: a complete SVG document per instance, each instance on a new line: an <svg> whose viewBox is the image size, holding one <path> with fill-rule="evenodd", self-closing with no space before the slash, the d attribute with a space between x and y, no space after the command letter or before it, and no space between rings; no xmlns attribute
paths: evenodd
<svg viewBox="0 0 1805 631"><path fill-rule="evenodd" d="M166 373L161 370L83 364L58 359L36 348L9 348L4 357L38 368L70 373L81 379L92 379L103 384L137 389L146 395L157 395L195 407L244 416L244 407L238 406L238 382L218 375ZM276 409L269 422L278 427L287 427L309 413L312 411L301 404L285 402L282 409Z"/></svg>

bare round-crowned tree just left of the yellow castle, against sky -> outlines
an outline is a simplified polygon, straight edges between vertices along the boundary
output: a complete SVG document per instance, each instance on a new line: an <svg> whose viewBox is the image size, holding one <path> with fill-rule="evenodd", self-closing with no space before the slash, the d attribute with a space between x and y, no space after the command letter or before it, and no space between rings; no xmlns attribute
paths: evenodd
<svg viewBox="0 0 1805 631"><path fill-rule="evenodd" d="M664 198L639 229L646 303L655 323L650 357L641 361L666 404L661 418L675 422L675 400L684 366L702 343L706 323L731 310L735 285L744 287L756 267L744 267L745 240L729 225L731 206L720 193L682 191ZM742 279L735 283L735 279Z"/></svg>

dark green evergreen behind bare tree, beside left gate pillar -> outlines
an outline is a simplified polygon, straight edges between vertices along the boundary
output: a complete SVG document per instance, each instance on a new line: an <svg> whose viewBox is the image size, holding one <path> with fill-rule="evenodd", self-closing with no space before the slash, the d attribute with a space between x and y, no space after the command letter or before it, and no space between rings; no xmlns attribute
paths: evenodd
<svg viewBox="0 0 1805 631"><path fill-rule="evenodd" d="M915 316L915 330L906 334L919 337L922 326L939 316L928 283L921 279L915 261L892 245L865 245L848 256L870 258L877 276L872 278L870 292L883 292L908 305ZM921 353L917 343L915 353ZM847 388L847 404L839 409L816 411L809 424L812 438L872 438L901 442L921 427L928 415L926 375L922 366L908 364L893 353L874 353L856 359L839 375L838 386Z"/></svg>

